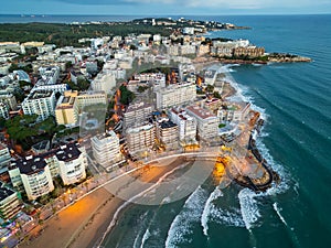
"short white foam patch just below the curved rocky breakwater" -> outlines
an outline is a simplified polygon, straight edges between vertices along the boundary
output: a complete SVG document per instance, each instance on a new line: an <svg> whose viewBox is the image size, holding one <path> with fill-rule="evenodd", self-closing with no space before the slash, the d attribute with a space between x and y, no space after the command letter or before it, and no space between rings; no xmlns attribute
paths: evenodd
<svg viewBox="0 0 331 248"><path fill-rule="evenodd" d="M249 188L244 188L238 194L242 217L248 230L252 229L253 225L260 217L255 200L256 196L256 193Z"/></svg>

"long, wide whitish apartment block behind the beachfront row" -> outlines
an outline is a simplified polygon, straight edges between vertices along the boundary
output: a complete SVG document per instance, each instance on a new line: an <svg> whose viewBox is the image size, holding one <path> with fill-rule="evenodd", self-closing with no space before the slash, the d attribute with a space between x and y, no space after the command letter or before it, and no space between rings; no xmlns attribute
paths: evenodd
<svg viewBox="0 0 331 248"><path fill-rule="evenodd" d="M157 90L157 108L190 104L196 98L196 86L193 84L177 84Z"/></svg>

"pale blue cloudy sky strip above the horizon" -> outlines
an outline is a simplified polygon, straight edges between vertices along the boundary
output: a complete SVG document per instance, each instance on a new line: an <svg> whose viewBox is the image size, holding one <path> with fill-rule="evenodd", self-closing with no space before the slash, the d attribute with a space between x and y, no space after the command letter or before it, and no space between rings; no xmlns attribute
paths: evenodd
<svg viewBox="0 0 331 248"><path fill-rule="evenodd" d="M0 14L309 14L331 0L2 0Z"/></svg>

